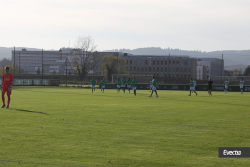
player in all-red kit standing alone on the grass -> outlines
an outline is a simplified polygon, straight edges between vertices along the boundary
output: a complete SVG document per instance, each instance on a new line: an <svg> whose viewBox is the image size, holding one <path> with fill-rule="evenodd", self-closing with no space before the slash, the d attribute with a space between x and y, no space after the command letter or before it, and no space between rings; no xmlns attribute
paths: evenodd
<svg viewBox="0 0 250 167"><path fill-rule="evenodd" d="M11 73L9 73L10 68L8 66L5 67L5 71L6 73L3 74L3 78L2 78L2 101L3 101L3 106L1 108L5 107L5 99L4 99L4 94L5 92L7 92L7 96L8 96L8 103L7 103L7 107L9 108L10 106L10 95L11 95L11 90L12 90L12 84L13 84L13 75Z"/></svg>

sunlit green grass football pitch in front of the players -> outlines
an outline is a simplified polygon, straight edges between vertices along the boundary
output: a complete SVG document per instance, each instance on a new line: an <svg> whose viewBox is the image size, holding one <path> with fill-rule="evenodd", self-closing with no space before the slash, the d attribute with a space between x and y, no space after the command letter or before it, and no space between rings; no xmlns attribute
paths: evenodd
<svg viewBox="0 0 250 167"><path fill-rule="evenodd" d="M0 166L250 166L250 93L14 87L0 112ZM7 97L5 96L7 100Z"/></svg>

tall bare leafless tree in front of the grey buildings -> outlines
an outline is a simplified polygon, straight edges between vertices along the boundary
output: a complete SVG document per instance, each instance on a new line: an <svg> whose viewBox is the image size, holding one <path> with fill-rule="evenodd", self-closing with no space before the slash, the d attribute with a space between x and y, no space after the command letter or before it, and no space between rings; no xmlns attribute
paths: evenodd
<svg viewBox="0 0 250 167"><path fill-rule="evenodd" d="M99 61L96 47L91 36L80 36L76 40L76 49L74 49L72 56L76 73L81 81L91 70L94 70L95 64Z"/></svg>

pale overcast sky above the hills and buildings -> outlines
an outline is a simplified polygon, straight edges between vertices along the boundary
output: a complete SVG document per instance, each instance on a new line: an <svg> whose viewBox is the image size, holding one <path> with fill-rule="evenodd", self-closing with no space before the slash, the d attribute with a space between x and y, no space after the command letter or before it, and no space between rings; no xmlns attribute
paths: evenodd
<svg viewBox="0 0 250 167"><path fill-rule="evenodd" d="M250 49L250 0L1 0L0 23L2 47Z"/></svg>

